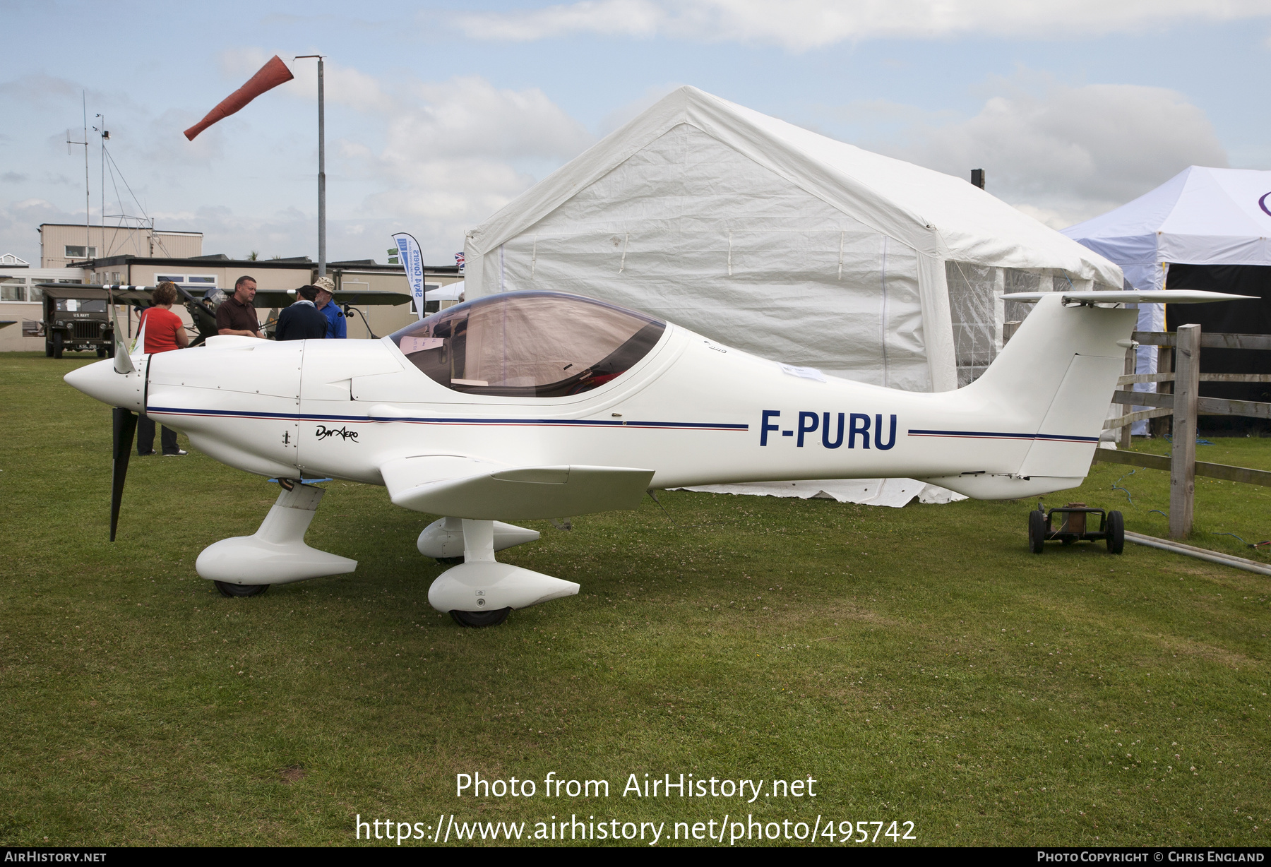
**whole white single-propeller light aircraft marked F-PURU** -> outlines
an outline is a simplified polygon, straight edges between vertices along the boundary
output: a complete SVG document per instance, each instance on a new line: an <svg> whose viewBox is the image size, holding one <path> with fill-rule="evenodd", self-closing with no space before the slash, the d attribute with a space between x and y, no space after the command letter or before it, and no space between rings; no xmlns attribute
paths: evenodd
<svg viewBox="0 0 1271 867"><path fill-rule="evenodd" d="M200 554L198 573L222 594L356 568L304 543L325 492L301 479L333 477L444 515L419 534L419 552L463 563L433 581L428 601L460 624L491 625L578 591L497 562L496 550L539 536L505 521L634 509L649 489L728 482L909 477L981 500L1077 487L1131 346L1136 310L1121 305L1244 296L1007 297L1037 308L980 379L943 393L827 378L544 291L475 299L379 341L211 337L130 355L117 338L113 360L66 381L114 407L112 539L144 412L282 484L254 535Z"/></svg>

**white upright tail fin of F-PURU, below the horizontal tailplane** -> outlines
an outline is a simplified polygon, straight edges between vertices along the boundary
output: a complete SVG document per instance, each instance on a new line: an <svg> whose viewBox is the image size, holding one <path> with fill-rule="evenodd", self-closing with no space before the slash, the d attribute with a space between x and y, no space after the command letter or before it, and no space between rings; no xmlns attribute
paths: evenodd
<svg viewBox="0 0 1271 867"><path fill-rule="evenodd" d="M1009 407L1021 434L1033 435L1023 477L1084 477L1103 431L1108 400L1125 365L1138 310L1064 306L1042 297L998 353L974 393Z"/></svg>

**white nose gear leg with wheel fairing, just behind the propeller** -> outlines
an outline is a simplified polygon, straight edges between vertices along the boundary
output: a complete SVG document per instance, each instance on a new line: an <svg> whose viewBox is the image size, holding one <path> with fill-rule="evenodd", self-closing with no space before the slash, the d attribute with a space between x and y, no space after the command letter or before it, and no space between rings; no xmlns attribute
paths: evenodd
<svg viewBox="0 0 1271 867"><path fill-rule="evenodd" d="M207 545L198 554L194 570L201 577L215 581L224 596L255 596L271 584L352 572L357 568L356 559L305 544L305 530L325 493L300 482L283 486L259 530Z"/></svg>

